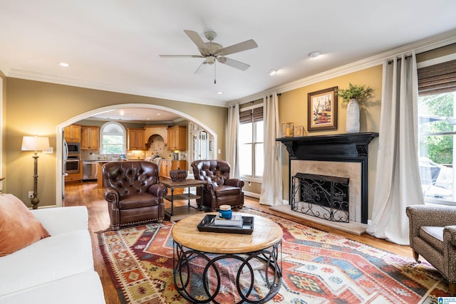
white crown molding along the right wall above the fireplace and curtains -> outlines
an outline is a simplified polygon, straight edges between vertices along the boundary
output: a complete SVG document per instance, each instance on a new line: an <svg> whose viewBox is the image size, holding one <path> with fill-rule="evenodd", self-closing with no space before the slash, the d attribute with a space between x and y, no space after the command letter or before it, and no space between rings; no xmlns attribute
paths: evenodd
<svg viewBox="0 0 456 304"><path fill-rule="evenodd" d="M279 85L277 87L270 88L269 90L264 90L263 92L254 95L249 95L244 98L232 100L231 102L227 103L227 106L233 105L235 103L239 103L240 105L242 105L244 103L249 103L252 100L261 99L265 95L268 95L269 93L274 91L276 91L277 93L285 93L290 90L296 90L298 88L305 87L307 85L313 85L314 83L320 83L325 80L330 80L349 73L354 73L358 70L372 68L373 66L383 64L383 62L385 61L388 61L398 56L402 56L402 54L404 53L405 55L410 55L413 51L415 51L415 53L423 53L425 51L430 51L435 48L440 48L442 46L448 46L452 43L456 43L456 30L441 33L440 35L432 36L430 38L426 38L415 43L410 43L406 46L401 46L399 48L395 48L393 50L386 51L384 53L380 53L378 55L371 56L360 61L355 61L353 63L341 65L338 68L326 70L325 72L311 75L309 77L302 78L291 83Z"/></svg>

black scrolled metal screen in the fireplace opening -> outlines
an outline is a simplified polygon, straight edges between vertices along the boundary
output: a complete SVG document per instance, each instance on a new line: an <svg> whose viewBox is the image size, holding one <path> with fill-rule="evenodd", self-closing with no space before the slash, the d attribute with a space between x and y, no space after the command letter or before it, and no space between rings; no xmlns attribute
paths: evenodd
<svg viewBox="0 0 456 304"><path fill-rule="evenodd" d="M349 179L296 173L291 181L291 210L328 221L350 221Z"/></svg>

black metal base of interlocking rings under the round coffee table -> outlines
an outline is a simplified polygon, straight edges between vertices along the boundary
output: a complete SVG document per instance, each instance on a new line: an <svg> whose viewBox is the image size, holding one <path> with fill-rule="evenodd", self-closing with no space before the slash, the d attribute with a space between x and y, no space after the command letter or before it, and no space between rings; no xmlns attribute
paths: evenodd
<svg viewBox="0 0 456 304"><path fill-rule="evenodd" d="M225 263L234 263L233 260L236 260L240 264L236 273L236 281L234 281L236 290L233 290L239 298L236 304L266 303L279 292L281 287L282 272L279 254L281 256L281 241L269 248L239 254L205 253L186 248L180 245L180 243L174 242L174 283L180 295L191 303L210 302L218 304L219 302L217 302L216 298L219 290L222 288L222 273L219 269L219 264L225 259L229 259ZM194 269L190 265L190 261L196 258L199 258L199 265L205 264L201 273L194 273ZM262 270L264 271L264 286L256 285L257 282L254 280L254 267L252 267L252 263L255 261L261 261L264 264L264 269ZM215 278L209 278L209 273L214 273ZM195 280L199 280L199 282L192 283L192 276L195 276ZM195 295L195 288L198 288L199 294L197 295ZM205 295L202 295L203 288ZM258 295L257 293L252 293L253 290L268 291L266 295Z"/></svg>

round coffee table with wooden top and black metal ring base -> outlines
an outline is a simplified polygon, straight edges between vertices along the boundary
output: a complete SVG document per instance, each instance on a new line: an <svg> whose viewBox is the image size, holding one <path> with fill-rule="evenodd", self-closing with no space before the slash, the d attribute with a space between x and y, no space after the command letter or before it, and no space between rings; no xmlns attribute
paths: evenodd
<svg viewBox="0 0 456 304"><path fill-rule="evenodd" d="M207 213L215 214L215 213ZM220 303L217 295L227 288L222 281L228 266L233 284L234 303L265 303L281 287L282 229L274 221L253 214L252 234L203 232L197 225L207 214L195 214L172 227L174 282L177 291L191 303ZM279 252L280 251L280 252ZM280 254L280 256L279 256ZM193 262L193 263L190 263ZM264 283L254 280L255 271L264 276ZM259 294L257 290L265 290ZM252 292L253 291L253 292Z"/></svg>

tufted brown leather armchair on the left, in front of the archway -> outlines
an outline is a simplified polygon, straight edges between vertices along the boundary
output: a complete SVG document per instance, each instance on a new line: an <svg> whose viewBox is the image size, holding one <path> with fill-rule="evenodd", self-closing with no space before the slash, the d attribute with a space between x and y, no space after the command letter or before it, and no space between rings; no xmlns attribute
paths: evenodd
<svg viewBox="0 0 456 304"><path fill-rule="evenodd" d="M111 229L120 226L162 222L163 197L167 188L158 184L158 167L152 162L107 162L103 164L103 186Z"/></svg>

